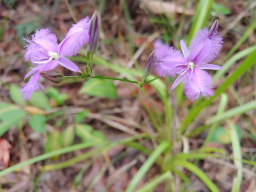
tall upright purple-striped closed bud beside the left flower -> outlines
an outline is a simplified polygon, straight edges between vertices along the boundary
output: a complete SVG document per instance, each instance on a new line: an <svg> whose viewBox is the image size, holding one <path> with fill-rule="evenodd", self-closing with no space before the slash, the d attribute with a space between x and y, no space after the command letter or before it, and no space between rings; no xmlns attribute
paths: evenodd
<svg viewBox="0 0 256 192"><path fill-rule="evenodd" d="M88 45L87 51L93 55L98 48L99 43L99 30L100 30L100 15L99 12L94 12L92 18L90 19L90 26L89 26L89 35L90 35L90 42Z"/></svg>

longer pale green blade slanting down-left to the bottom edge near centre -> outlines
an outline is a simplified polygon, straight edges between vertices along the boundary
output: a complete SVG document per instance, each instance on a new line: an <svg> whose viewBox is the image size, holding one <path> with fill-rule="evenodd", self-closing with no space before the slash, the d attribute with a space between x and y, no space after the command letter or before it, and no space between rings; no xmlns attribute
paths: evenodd
<svg viewBox="0 0 256 192"><path fill-rule="evenodd" d="M132 178L131 182L129 183L128 187L126 188L125 192L133 192L137 184L142 180L144 175L148 172L150 167L154 164L157 160L157 157L169 146L169 143L163 141L157 148L152 152L152 154L148 157L147 160L143 163L140 167L139 171L136 175Z"/></svg>

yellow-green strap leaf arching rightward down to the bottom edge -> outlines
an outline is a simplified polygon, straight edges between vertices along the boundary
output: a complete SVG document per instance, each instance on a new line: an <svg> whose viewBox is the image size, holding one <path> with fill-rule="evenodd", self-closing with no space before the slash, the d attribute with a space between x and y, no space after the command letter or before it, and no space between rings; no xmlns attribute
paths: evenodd
<svg viewBox="0 0 256 192"><path fill-rule="evenodd" d="M219 192L217 186L209 179L209 177L197 166L188 161L176 160L173 162L175 166L182 166L189 171L193 172L196 176L198 176L204 184L210 189L211 192Z"/></svg>

